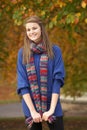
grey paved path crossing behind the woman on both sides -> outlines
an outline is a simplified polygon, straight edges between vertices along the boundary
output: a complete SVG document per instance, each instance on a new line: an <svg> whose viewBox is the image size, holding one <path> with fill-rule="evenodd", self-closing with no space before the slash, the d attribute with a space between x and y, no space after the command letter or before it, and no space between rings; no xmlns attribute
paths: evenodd
<svg viewBox="0 0 87 130"><path fill-rule="evenodd" d="M86 116L87 103L62 101L64 116ZM0 104L0 118L23 117L21 103Z"/></svg>

